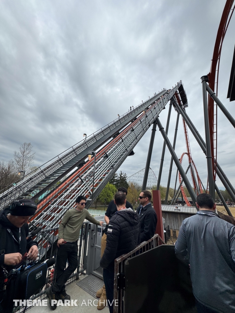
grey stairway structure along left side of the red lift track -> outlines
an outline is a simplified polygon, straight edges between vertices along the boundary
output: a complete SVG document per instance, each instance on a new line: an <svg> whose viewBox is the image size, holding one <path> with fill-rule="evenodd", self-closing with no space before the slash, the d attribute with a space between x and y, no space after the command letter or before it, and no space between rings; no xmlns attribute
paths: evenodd
<svg viewBox="0 0 235 313"><path fill-rule="evenodd" d="M44 195L45 192L48 192L49 189L53 190L59 181L63 181L65 175L84 165L88 151L97 150L107 141L112 140L123 128L131 125L137 117L142 114L143 110L147 110L149 106L153 105L154 102L159 100L163 95L166 95L165 89L142 102L140 105L133 108L133 110L102 127L89 136L86 141L80 141L43 164L36 172L31 173L31 175L29 174L23 181L17 182L15 186L0 195L0 209L8 206L13 199L27 196L31 198L32 196L30 195L32 194L34 198L38 198Z"/></svg>

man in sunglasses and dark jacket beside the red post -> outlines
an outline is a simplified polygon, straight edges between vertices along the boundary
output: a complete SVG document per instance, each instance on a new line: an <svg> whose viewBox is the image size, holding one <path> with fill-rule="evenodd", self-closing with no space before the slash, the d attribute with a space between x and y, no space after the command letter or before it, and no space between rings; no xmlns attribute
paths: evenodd
<svg viewBox="0 0 235 313"><path fill-rule="evenodd" d="M137 213L140 217L140 242L147 241L154 236L157 226L157 214L151 205L152 194L148 190L143 190L139 195L140 206Z"/></svg>

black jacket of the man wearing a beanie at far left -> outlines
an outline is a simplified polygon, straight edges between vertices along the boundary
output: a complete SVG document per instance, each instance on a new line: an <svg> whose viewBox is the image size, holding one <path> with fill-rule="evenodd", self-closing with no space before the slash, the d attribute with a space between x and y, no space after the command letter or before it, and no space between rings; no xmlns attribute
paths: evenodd
<svg viewBox="0 0 235 313"><path fill-rule="evenodd" d="M7 218L7 214L10 213L8 210L4 210L0 213L0 223L1 223L1 233L5 231L5 247L2 247L2 236L0 238L0 249L5 249L5 254L9 253L21 253L22 255L25 254L25 252L28 252L29 249L34 245L38 245L36 241L32 239L26 239L29 235L29 226L27 223L25 223L21 228L21 241L20 241L20 246L19 244L13 239L12 235L7 231L7 228L9 228L15 239L18 241L19 240L19 228L14 226ZM5 228L5 229L4 229ZM4 265L4 257L5 254L0 255L0 266ZM7 266L4 265L7 269L11 269L14 266Z"/></svg>

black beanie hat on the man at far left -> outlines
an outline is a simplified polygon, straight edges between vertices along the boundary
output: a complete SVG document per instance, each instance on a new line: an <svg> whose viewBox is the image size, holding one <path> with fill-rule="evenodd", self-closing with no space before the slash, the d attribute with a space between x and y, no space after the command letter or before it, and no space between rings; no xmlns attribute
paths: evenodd
<svg viewBox="0 0 235 313"><path fill-rule="evenodd" d="M36 209L37 204L30 199L14 201L9 208L11 215L15 216L32 216L35 214Z"/></svg>

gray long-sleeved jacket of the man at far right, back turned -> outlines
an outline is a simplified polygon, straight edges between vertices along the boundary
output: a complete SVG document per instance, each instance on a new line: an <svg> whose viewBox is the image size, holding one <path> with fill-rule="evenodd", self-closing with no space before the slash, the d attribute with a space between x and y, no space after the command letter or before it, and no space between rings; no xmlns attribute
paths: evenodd
<svg viewBox="0 0 235 313"><path fill-rule="evenodd" d="M185 218L175 253L189 258L195 298L212 310L235 312L235 226L212 211Z"/></svg>

